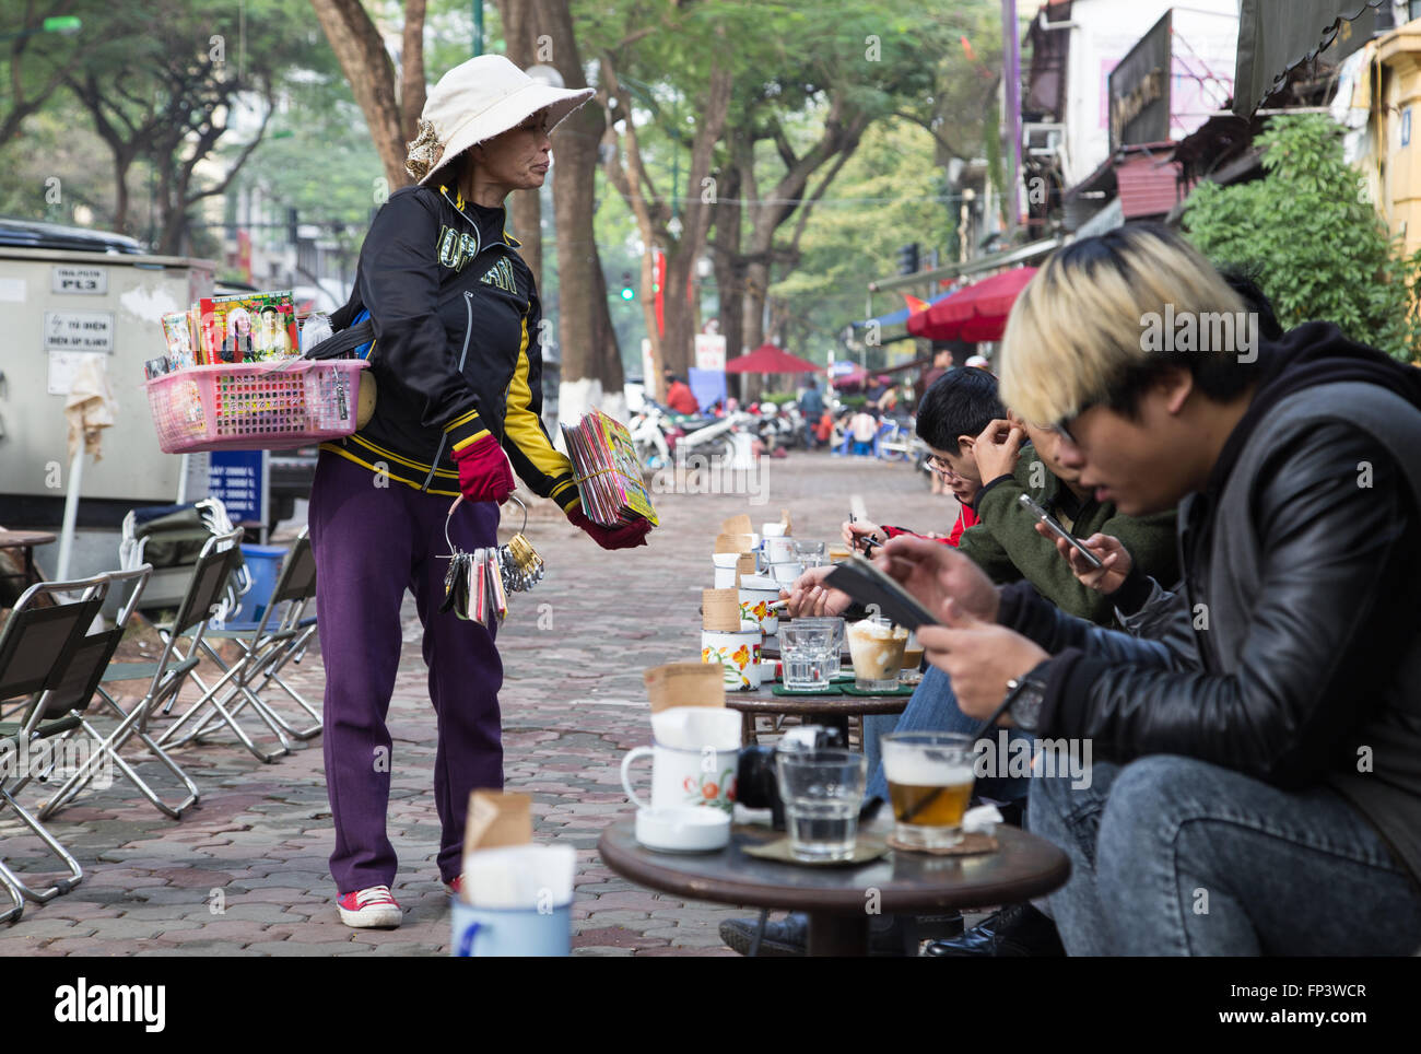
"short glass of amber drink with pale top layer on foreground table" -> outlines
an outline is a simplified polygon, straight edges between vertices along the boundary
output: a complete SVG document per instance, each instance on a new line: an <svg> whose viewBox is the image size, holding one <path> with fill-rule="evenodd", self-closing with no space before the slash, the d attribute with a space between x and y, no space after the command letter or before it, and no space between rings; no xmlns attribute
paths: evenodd
<svg viewBox="0 0 1421 1054"><path fill-rule="evenodd" d="M962 841L962 814L975 781L975 744L955 732L894 732L882 737L884 776L897 841L946 849Z"/></svg>

